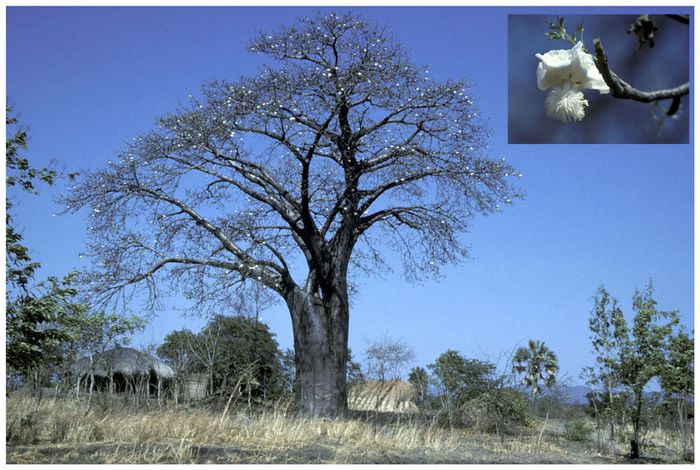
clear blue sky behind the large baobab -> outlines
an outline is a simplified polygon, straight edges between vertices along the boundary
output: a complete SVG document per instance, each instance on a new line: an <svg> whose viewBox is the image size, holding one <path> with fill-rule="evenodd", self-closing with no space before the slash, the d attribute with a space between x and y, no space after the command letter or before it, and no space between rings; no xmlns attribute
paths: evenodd
<svg viewBox="0 0 700 470"><path fill-rule="evenodd" d="M204 81L255 74L261 58L245 44L256 31L320 10L328 9L8 8L7 96L30 126L27 155L36 165L55 159L70 171L99 168ZM634 289L649 278L660 308L678 309L693 327L692 133L689 145L507 143L508 14L584 11L354 10L393 30L435 78L474 83L493 131L489 151L518 168L526 193L503 212L473 221L465 235L472 260L447 268L441 281L407 284L397 264L394 273L361 284L350 320L356 356L384 333L413 345L414 365L448 348L495 360L533 338L544 340L579 382L581 368L592 362L587 320L596 287L604 284L629 313ZM527 73L535 88L536 66L533 57ZM521 119L539 114L522 109ZM691 115L691 129L692 122ZM38 197L17 198L15 218L43 264L39 277L87 265L78 256L87 214L52 215L61 211L54 198L65 189L59 182ZM281 346L291 346L283 306L263 319ZM135 344L201 323L162 312Z"/></svg>

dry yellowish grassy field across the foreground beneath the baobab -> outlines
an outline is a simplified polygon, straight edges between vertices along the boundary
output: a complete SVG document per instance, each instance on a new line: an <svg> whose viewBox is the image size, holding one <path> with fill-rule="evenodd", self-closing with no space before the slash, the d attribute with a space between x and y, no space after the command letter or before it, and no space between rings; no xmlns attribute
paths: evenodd
<svg viewBox="0 0 700 470"><path fill-rule="evenodd" d="M315 420L284 409L249 413L223 406L87 409L75 399L7 399L7 463L626 463L623 446L596 451L570 441L561 421L496 436L431 425L410 416ZM647 462L674 461L657 445Z"/></svg>

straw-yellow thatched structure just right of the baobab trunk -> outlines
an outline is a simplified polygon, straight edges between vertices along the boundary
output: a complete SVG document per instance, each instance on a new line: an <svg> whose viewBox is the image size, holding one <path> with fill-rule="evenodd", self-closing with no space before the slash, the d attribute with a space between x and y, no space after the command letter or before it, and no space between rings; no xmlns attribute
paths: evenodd
<svg viewBox="0 0 700 470"><path fill-rule="evenodd" d="M348 389L348 407L361 411L390 411L415 413L415 392L408 382L364 382Z"/></svg>

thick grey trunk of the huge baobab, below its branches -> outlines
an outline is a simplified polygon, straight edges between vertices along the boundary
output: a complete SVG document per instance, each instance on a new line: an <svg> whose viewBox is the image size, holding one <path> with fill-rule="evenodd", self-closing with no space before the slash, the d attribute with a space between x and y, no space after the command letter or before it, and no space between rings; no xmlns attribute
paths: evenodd
<svg viewBox="0 0 700 470"><path fill-rule="evenodd" d="M338 417L347 411L347 286L336 283L327 298L295 288L287 297L294 329L296 393L304 414Z"/></svg>

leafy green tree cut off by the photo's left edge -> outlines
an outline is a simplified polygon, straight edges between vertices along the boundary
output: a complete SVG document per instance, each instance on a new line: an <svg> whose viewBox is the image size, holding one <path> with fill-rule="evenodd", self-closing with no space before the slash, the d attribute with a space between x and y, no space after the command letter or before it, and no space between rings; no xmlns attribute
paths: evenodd
<svg viewBox="0 0 700 470"><path fill-rule="evenodd" d="M63 279L50 277L33 283L41 265L32 260L29 248L22 243L22 234L14 226L12 191L19 189L36 195L39 193L37 183L52 185L58 173L51 168L36 168L22 155L27 150L28 135L10 107L6 108L5 124L7 373L19 372L25 380L33 375L35 387L40 392L46 367L57 370L68 360L62 350L77 336L79 329L75 319L86 311L86 307L77 300L75 273ZM72 179L75 174L68 177ZM38 394L37 404L40 399Z"/></svg>

